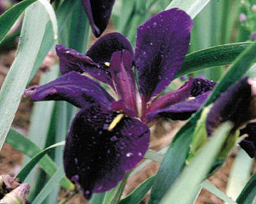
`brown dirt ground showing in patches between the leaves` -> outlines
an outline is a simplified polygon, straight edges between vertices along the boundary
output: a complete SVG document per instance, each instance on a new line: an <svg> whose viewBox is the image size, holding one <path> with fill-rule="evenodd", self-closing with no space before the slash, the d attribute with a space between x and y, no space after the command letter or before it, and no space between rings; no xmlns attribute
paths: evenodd
<svg viewBox="0 0 256 204"><path fill-rule="evenodd" d="M0 55L0 86L4 80L4 76L6 76L10 65L12 64L12 60L14 59L15 51L8 51L6 53L2 53ZM33 83L37 83L39 78L39 74L37 74ZM18 109L18 112L15 116L13 126L18 128L24 134L27 133L29 128L29 117L31 111L32 104L31 103L21 103ZM175 135L176 131L184 122L159 122L154 128L152 128L152 136L151 136L151 149L159 150L168 146L170 144L171 139ZM236 157L236 151L230 154L225 165L211 176L210 181L216 185L219 189L225 192L225 187L227 184L227 178L230 173L230 167L233 163L234 158ZM23 159L23 154L13 149L9 144L4 144L3 149L0 152L0 174L8 173L11 176L15 176L19 170L20 165ZM142 181L146 178L153 176L157 173L157 169L159 168L159 164L156 162L151 162L146 165L145 168L138 171L134 176L129 178L127 182L127 186L124 190L124 197L132 192L135 187L138 186ZM61 192L61 196L65 195L64 190ZM147 203L148 195L141 203ZM82 195L75 195L68 202L69 204L79 204L79 203L87 203L87 201L83 198ZM205 189L200 192L199 197L197 198L196 204L220 204L223 203L222 200L219 200L216 196L211 195L211 193L207 192Z"/></svg>

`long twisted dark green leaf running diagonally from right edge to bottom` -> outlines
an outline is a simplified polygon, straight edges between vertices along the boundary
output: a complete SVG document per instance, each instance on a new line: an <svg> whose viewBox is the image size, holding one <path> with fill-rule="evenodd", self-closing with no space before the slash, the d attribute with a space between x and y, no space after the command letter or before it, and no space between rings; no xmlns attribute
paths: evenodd
<svg viewBox="0 0 256 204"><path fill-rule="evenodd" d="M210 97L203 107L213 103L219 95L227 89L227 87L230 87L230 85L233 85L238 81L238 79L240 79L241 76L243 76L243 74L250 68L255 57L256 44L253 43L235 60L233 66L231 66L220 82L214 87L214 90L212 90ZM187 154L189 152L189 145L195 130L195 123L197 122L197 119L200 118L203 107L190 117L190 119L181 127L180 130L178 130L178 133L176 133L176 136L173 138L154 181L149 200L150 203L158 203L184 168Z"/></svg>

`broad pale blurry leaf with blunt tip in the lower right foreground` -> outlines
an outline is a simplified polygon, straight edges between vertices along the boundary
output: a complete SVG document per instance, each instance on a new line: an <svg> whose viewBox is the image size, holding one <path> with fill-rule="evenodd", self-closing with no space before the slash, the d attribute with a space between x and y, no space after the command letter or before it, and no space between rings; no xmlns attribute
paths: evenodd
<svg viewBox="0 0 256 204"><path fill-rule="evenodd" d="M172 187L167 190L160 202L161 204L170 202L173 204L193 203L198 187L211 170L211 165L214 163L232 127L233 125L230 122L225 122L214 131L210 141L195 156L187 168L184 168L181 176Z"/></svg>

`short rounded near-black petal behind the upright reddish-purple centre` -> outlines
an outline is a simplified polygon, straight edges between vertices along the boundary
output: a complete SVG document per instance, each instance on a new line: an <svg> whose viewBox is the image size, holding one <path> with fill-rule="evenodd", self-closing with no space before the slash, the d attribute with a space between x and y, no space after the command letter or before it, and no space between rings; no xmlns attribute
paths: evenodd
<svg viewBox="0 0 256 204"><path fill-rule="evenodd" d="M105 62L110 62L113 52L122 50L128 50L133 55L132 45L129 40L122 34L111 33L97 40L86 55L94 62L104 64Z"/></svg>

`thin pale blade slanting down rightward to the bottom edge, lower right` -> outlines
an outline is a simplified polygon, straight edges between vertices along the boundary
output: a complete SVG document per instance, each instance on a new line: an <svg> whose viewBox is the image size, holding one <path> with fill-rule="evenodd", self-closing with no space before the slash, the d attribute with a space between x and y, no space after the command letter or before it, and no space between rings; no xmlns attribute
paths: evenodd
<svg viewBox="0 0 256 204"><path fill-rule="evenodd" d="M225 201L227 204L236 204L234 200L232 200L230 197L227 197L227 195L225 195L224 192L215 187L214 184L211 184L211 182L208 180L203 181L201 187L208 190L208 192L211 192L212 194L216 195L221 200Z"/></svg>

